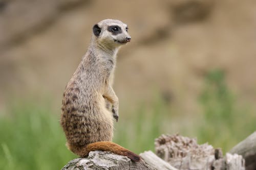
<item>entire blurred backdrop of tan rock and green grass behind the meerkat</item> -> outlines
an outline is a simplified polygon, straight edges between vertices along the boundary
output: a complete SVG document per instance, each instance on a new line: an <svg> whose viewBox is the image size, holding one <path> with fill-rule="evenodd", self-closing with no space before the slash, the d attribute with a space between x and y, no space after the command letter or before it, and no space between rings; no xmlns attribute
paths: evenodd
<svg viewBox="0 0 256 170"><path fill-rule="evenodd" d="M0 166L60 169L76 158L62 92L102 19L127 23L114 142L154 151L180 133L228 152L256 130L256 2L0 0Z"/></svg>

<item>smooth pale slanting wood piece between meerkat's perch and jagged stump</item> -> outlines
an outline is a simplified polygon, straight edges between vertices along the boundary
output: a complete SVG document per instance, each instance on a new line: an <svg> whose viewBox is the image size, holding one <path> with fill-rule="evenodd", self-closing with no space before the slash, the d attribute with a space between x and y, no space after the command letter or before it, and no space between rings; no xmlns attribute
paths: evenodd
<svg viewBox="0 0 256 170"><path fill-rule="evenodd" d="M141 153L140 156L147 164L157 170L178 170L177 168L159 158L152 151L145 151L144 153Z"/></svg>

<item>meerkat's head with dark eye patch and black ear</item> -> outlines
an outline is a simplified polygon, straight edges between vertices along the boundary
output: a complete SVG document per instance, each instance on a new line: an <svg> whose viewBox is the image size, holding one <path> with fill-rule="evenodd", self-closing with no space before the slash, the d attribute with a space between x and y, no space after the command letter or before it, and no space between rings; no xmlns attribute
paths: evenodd
<svg viewBox="0 0 256 170"><path fill-rule="evenodd" d="M128 27L120 20L105 19L93 27L93 34L97 43L109 48L116 48L131 41L127 33Z"/></svg>

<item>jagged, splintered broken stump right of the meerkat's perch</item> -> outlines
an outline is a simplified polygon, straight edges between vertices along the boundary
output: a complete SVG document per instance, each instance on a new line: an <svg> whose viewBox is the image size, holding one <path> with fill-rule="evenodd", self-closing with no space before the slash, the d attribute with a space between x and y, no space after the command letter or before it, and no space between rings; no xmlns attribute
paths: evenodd
<svg viewBox="0 0 256 170"><path fill-rule="evenodd" d="M161 135L155 141L156 154L180 170L216 169L244 170L245 161L241 155L227 154L224 158L221 149L214 149L196 139L179 135Z"/></svg>

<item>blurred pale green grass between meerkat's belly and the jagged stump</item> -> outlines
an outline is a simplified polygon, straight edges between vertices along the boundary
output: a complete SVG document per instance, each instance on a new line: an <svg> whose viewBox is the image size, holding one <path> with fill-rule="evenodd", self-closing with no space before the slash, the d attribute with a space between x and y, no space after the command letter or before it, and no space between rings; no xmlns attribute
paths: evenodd
<svg viewBox="0 0 256 170"><path fill-rule="evenodd" d="M139 154L155 151L154 140L164 133L163 118L168 117L167 107L161 100L148 108L142 106L127 118L121 118L115 125L114 142ZM124 114L124 113L123 113Z"/></svg>

